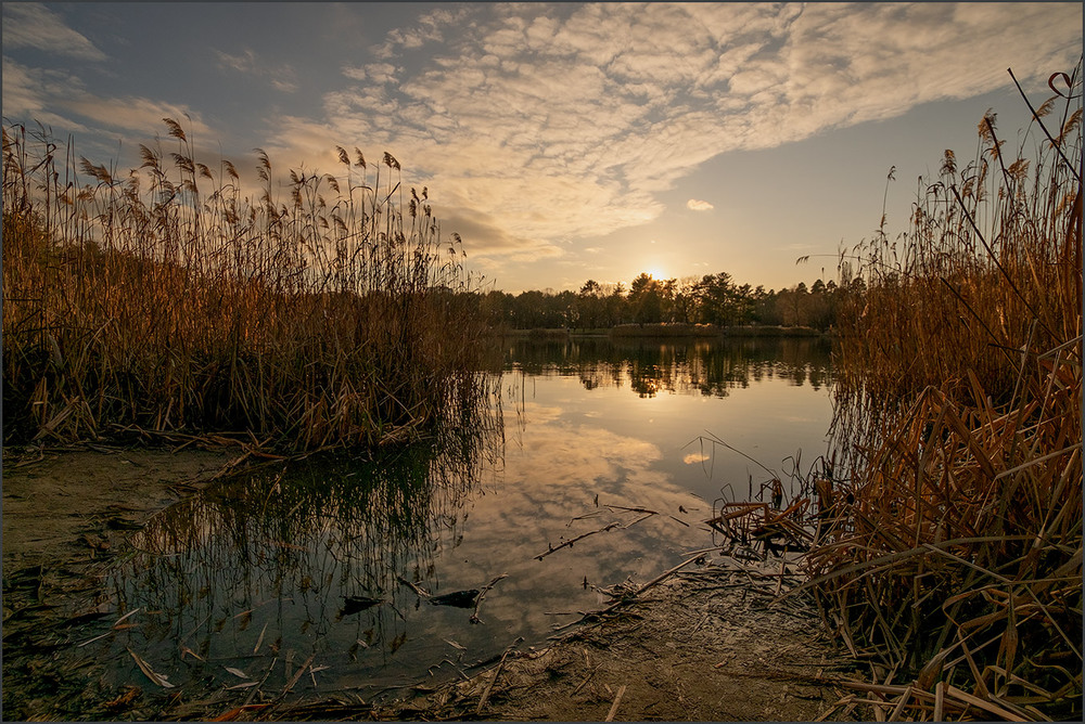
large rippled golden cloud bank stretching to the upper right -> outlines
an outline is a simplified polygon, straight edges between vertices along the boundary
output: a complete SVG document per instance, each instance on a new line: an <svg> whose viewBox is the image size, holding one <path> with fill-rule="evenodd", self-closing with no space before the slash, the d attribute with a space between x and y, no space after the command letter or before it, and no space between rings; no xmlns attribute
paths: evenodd
<svg viewBox="0 0 1085 724"><path fill-rule="evenodd" d="M1080 18L1037 3L472 7L344 67L319 122L455 190L457 219L488 220L480 250L529 256L653 220L659 194L718 154L983 93L1007 63L1065 67Z"/></svg>

